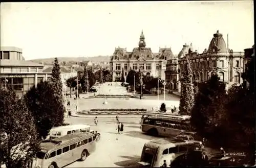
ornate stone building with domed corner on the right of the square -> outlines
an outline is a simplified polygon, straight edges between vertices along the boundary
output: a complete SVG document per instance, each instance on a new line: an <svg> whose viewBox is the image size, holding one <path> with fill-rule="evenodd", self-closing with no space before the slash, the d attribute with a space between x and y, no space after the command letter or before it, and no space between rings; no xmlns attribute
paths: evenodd
<svg viewBox="0 0 256 168"><path fill-rule="evenodd" d="M211 75L218 75L220 81L232 84L242 84L244 52L233 52L228 47L223 35L217 31L211 39L208 50L198 54L192 44L183 45L179 58L179 81L184 72L186 57L188 57L193 71L193 82L206 82Z"/></svg>

